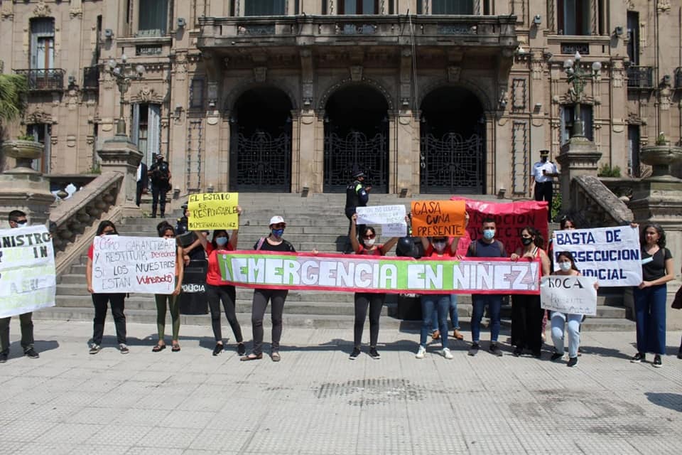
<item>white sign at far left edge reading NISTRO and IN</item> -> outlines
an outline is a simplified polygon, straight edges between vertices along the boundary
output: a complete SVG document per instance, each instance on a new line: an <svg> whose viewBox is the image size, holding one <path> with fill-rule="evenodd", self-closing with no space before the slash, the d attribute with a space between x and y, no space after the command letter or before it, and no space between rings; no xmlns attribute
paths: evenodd
<svg viewBox="0 0 682 455"><path fill-rule="evenodd" d="M55 252L45 226L0 230L0 318L55 306Z"/></svg>

